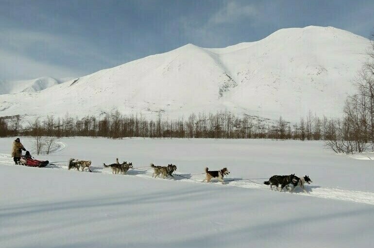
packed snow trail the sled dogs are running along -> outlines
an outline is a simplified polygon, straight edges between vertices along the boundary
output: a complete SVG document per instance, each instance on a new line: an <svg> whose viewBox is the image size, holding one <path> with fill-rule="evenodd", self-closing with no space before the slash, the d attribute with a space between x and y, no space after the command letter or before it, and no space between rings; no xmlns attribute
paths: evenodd
<svg viewBox="0 0 374 248"><path fill-rule="evenodd" d="M68 170L68 166L66 164L57 163L57 162L55 163L56 165L48 165L45 168ZM8 154L0 154L0 164L15 166L13 159ZM141 169L137 169L137 168L130 169L128 171L128 174L125 176L124 175L113 175L110 168L91 166L91 170L93 173L103 173L103 174L111 175L113 177L136 176L136 177L143 177L143 178L154 179L154 180L172 180L172 179L153 178L152 177L153 170L151 170L150 168L148 169L147 167L142 167ZM74 170L71 170L71 173L78 173L78 172L74 169ZM180 176L174 175L174 177L176 178L176 181L184 181L184 182L190 182L190 183L202 183L201 181L204 179L204 175L196 176L196 175L191 175L187 173L181 173L178 171L176 171L175 173L180 175ZM233 179L227 178L226 180L228 180L225 184L226 186L271 191L268 185L262 184L263 180L243 179L243 178L233 178ZM212 183L216 184L217 186L224 186L220 182L212 182ZM301 189L298 187L295 190L295 192L292 194L374 205L374 192L355 191L355 190L346 190L346 189L337 189L337 188L325 188L325 187L314 186L314 185L305 185L305 188L308 193L302 192ZM274 194L290 194L288 192L277 192L275 190L273 192Z"/></svg>

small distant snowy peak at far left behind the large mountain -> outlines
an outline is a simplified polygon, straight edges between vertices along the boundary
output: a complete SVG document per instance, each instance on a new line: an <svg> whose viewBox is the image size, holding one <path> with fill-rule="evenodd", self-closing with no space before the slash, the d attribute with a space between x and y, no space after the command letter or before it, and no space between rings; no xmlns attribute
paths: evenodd
<svg viewBox="0 0 374 248"><path fill-rule="evenodd" d="M40 77L32 80L7 81L0 80L1 94L16 94L19 92L37 92L48 87L58 85L64 80L58 80L52 77Z"/></svg>

